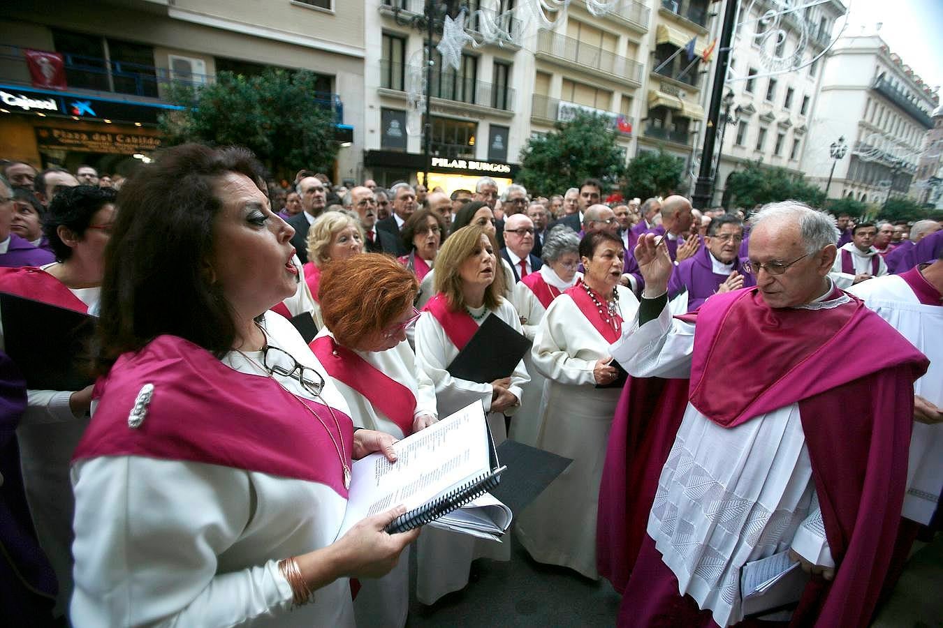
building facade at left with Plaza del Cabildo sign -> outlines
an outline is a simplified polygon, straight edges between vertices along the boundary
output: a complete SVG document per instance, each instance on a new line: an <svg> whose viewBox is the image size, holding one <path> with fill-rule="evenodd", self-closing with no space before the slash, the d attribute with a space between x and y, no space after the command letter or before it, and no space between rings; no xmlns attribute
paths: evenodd
<svg viewBox="0 0 943 628"><path fill-rule="evenodd" d="M352 180L364 146L364 7L340 0L128 0L4 3L0 154L37 167L130 171L160 145L157 115L172 81L223 70L306 69L335 112L335 180ZM62 58L64 85L37 87L30 51Z"/></svg>

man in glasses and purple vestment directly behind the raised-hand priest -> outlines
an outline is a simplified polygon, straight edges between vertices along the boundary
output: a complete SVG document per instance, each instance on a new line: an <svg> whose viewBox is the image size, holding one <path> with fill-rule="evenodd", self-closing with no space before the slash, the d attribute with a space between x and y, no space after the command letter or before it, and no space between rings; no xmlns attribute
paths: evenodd
<svg viewBox="0 0 943 628"><path fill-rule="evenodd" d="M736 216L724 214L714 218L701 250L678 263L668 282L668 298L687 295L687 312L701 307L708 297L756 285L756 280L743 270L737 257L743 239L743 223Z"/></svg>

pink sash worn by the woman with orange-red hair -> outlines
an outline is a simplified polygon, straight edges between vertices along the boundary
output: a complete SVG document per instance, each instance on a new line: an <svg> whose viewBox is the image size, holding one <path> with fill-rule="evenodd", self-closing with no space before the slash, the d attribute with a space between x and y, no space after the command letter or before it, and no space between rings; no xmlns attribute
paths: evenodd
<svg viewBox="0 0 943 628"><path fill-rule="evenodd" d="M389 378L355 351L339 345L331 336L315 338L309 346L332 378L365 396L374 408L386 414L403 431L404 436L412 434L416 411L416 396L412 391Z"/></svg>

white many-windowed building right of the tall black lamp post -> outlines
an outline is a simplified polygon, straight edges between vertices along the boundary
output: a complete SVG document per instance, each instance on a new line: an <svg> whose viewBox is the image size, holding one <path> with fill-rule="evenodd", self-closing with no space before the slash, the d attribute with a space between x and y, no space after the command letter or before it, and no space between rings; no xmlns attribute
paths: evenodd
<svg viewBox="0 0 943 628"><path fill-rule="evenodd" d="M823 75L822 53L831 43L835 21L846 9L833 0L807 7L801 14L786 13L780 24L786 40L755 37L753 24L760 24L761 14L772 8L774 3L769 1L741 6L738 22L750 25L738 29L733 41L720 113L720 161L715 167L711 205L728 204L724 190L736 170L761 162L800 174L806 143L818 145L824 141L824 137L810 134L809 127ZM801 67L791 72L770 72L779 59Z"/></svg>

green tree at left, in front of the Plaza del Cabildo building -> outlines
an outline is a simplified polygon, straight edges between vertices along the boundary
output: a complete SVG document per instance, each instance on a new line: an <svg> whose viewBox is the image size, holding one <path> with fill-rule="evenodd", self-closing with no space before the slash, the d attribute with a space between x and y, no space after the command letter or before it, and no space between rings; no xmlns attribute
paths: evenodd
<svg viewBox="0 0 943 628"><path fill-rule="evenodd" d="M168 100L186 108L161 116L159 126L167 145L244 146L273 174L291 178L303 168L328 169L338 153L334 111L315 92L312 72L220 72L204 87L174 84Z"/></svg>

